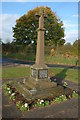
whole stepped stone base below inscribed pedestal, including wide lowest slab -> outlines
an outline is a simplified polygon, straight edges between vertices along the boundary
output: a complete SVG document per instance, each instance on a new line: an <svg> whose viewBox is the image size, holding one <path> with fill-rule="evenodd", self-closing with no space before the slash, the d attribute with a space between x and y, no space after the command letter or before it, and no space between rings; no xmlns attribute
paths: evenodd
<svg viewBox="0 0 80 120"><path fill-rule="evenodd" d="M22 94L27 100L47 99L60 96L65 93L62 86L50 81L34 81L30 77L15 79L11 83L12 88ZM66 91L67 92L67 91Z"/></svg>

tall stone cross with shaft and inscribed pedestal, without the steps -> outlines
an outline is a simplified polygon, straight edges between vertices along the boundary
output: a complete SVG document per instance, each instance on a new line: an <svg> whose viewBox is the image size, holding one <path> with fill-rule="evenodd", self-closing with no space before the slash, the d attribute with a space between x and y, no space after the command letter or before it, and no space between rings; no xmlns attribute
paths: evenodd
<svg viewBox="0 0 80 120"><path fill-rule="evenodd" d="M39 16L39 28L37 37L37 52L36 52L36 62L32 67L32 77L39 79L48 78L48 68L44 64L44 8L40 9Z"/></svg>

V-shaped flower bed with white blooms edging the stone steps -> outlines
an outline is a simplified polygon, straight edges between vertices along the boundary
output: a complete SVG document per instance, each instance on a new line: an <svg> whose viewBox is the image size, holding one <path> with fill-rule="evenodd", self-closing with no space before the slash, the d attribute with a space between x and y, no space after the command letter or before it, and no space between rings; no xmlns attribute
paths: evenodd
<svg viewBox="0 0 80 120"><path fill-rule="evenodd" d="M9 95L10 100L12 100L17 108L21 111L29 111L35 107L45 107L53 103L61 103L63 101L66 101L70 98L78 98L77 91L73 91L71 94L64 94L57 96L56 98L45 98L45 99L34 99L34 100L27 100L22 94L20 94L18 91L16 91L16 88L14 88L10 83L3 84L3 88L7 95Z"/></svg>

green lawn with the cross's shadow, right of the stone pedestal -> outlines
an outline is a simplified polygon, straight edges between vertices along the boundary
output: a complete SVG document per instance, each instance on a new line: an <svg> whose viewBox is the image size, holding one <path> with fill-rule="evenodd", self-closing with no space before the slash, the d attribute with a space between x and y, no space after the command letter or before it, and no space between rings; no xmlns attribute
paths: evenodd
<svg viewBox="0 0 80 120"><path fill-rule="evenodd" d="M63 80L78 82L78 70L68 68L50 68L50 75L62 78Z"/></svg>

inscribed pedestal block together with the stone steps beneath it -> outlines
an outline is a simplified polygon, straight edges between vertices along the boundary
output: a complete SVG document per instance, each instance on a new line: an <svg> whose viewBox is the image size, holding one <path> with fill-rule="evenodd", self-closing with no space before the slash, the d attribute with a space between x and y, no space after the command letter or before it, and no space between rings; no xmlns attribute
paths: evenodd
<svg viewBox="0 0 80 120"><path fill-rule="evenodd" d="M51 82L48 76L48 67L46 65L40 66L33 65L31 67L31 76L27 79L19 80L17 84L14 84L25 98L50 97L53 96L54 91L58 91L57 84Z"/></svg>

